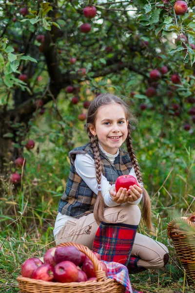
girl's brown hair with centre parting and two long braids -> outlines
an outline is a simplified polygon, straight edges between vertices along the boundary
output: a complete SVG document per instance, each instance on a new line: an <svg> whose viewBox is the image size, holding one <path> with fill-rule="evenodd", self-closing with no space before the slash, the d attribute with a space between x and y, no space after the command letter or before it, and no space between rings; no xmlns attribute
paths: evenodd
<svg viewBox="0 0 195 293"><path fill-rule="evenodd" d="M141 172L139 169L139 165L137 163L136 155L133 150L132 139L131 139L131 125L130 125L130 121L136 122L137 120L133 117L133 114L130 111L129 106L123 100L121 100L117 96L114 96L111 94L101 94L101 95L98 95L92 101L91 105L89 106L88 115L87 115L87 123L85 124L85 128L86 128L88 136L90 138L91 147L92 147L93 154L94 154L94 161L95 161L95 167L96 167L96 179L97 179L98 185L101 184L101 173L102 173L101 159L100 159L100 155L99 155L98 138L93 136L93 134L91 133L91 131L89 129L89 126L90 125L95 126L98 109L101 106L109 105L109 104L113 104L113 103L117 103L123 107L125 114L126 114L126 119L129 120L128 135L127 135L127 139L126 139L127 150L128 150L131 162L134 166L134 170L135 170L135 173L137 176L138 183L141 184L142 183L142 176L141 176ZM142 194L143 194L142 218L143 218L143 221L146 224L147 228L150 230L153 230L152 221L151 221L150 197L149 197L145 188L142 188ZM98 222L98 224L102 221L107 222L104 218L104 215L103 215L104 208L105 208L104 199L103 199L101 191L98 190L98 196L97 196L97 199L96 199L96 202L94 205L94 217L95 217L96 221Z"/></svg>

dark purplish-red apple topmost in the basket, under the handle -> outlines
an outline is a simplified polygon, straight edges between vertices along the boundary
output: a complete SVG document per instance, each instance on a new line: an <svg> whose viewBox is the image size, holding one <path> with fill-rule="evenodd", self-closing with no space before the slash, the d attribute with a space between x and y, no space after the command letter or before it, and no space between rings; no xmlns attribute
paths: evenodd
<svg viewBox="0 0 195 293"><path fill-rule="evenodd" d="M55 262L58 264L62 261L71 261L76 266L80 263L80 252L75 246L67 246L67 247L57 247L54 254Z"/></svg>

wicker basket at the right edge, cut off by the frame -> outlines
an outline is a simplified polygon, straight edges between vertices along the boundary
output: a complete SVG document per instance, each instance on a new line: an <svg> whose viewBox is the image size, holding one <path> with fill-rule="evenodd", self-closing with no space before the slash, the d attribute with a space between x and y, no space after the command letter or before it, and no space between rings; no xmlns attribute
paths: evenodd
<svg viewBox="0 0 195 293"><path fill-rule="evenodd" d="M195 286L195 222L186 217L175 218L168 224L167 230L186 271L187 281Z"/></svg>

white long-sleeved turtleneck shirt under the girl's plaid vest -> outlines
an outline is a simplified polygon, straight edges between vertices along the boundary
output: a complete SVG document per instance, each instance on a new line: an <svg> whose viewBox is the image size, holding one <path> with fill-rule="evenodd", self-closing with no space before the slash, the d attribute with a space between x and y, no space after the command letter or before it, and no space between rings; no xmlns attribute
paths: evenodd
<svg viewBox="0 0 195 293"><path fill-rule="evenodd" d="M107 153L102 146L99 144L99 148L101 151L106 155L107 159L110 160L112 163L114 163L115 158L117 157L119 150L117 150L117 153L115 155ZM96 194L98 194L98 183L96 180L96 167L94 159L88 155L88 154L77 154L75 159L75 169L78 173L78 175L84 180L84 182L87 184L87 186ZM129 172L129 175L134 176L137 179L136 173L134 168L131 169ZM101 174L101 193L105 202L105 205L107 207L116 207L120 204L117 204L115 201L112 200L110 195L110 188L114 185L110 185L109 181L106 179L105 176ZM129 204L138 205L141 201L142 194L140 198L137 201L128 202ZM55 227L54 227L54 237L57 235L59 230L64 226L64 224L71 220L73 217L67 216L62 213L58 213Z"/></svg>

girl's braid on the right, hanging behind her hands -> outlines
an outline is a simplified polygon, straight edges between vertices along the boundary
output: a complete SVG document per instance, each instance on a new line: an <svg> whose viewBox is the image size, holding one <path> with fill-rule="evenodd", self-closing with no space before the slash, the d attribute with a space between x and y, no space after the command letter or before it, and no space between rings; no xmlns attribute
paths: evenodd
<svg viewBox="0 0 195 293"><path fill-rule="evenodd" d="M136 155L133 150L133 144L131 139L131 128L130 124L128 124L128 135L127 135L127 150L130 156L130 159L132 161L132 164L134 166L134 170L137 176L138 183L143 186L142 176L139 169L139 165L137 163ZM142 205L142 218L144 220L144 223L146 224L147 228L150 230L154 230L152 221L151 221L151 202L150 202L150 196L145 188L142 187L142 194L143 194L143 205Z"/></svg>

